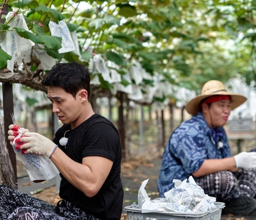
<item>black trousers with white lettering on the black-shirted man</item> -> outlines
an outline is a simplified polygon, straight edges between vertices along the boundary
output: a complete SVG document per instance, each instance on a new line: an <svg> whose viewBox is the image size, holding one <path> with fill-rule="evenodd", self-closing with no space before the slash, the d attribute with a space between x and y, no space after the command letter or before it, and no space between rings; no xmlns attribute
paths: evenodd
<svg viewBox="0 0 256 220"><path fill-rule="evenodd" d="M0 219L6 220L100 220L70 202L55 207L41 199L0 184Z"/></svg>

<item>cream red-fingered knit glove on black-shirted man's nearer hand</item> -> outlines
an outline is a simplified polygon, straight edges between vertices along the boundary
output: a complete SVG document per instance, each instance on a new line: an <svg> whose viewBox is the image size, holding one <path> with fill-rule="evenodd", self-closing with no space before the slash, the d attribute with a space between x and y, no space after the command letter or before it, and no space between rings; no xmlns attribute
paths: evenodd
<svg viewBox="0 0 256 220"><path fill-rule="evenodd" d="M17 150L27 149L25 153L46 155L49 158L57 147L51 140L35 132L26 132L21 138L16 139L15 142L17 143L15 146Z"/></svg>

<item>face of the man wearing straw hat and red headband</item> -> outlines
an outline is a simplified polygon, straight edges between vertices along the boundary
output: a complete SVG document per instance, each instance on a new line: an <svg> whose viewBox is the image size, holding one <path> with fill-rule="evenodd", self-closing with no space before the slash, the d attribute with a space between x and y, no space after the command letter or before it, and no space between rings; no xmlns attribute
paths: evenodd
<svg viewBox="0 0 256 220"><path fill-rule="evenodd" d="M207 105L207 104L206 104ZM210 127L223 127L231 112L231 101L221 100L203 108L205 119Z"/></svg>

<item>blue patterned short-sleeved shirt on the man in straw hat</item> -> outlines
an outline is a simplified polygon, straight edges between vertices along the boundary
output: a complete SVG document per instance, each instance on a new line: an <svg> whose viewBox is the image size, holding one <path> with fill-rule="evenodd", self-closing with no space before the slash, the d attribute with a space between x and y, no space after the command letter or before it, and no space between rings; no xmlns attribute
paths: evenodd
<svg viewBox="0 0 256 220"><path fill-rule="evenodd" d="M157 182L159 196L164 197L174 187L173 179L184 179L197 171L206 159L231 157L228 138L223 127L217 128L222 132L219 141L223 143L218 148L212 138L212 132L201 112L188 121L184 121L173 132L165 146L162 166Z"/></svg>

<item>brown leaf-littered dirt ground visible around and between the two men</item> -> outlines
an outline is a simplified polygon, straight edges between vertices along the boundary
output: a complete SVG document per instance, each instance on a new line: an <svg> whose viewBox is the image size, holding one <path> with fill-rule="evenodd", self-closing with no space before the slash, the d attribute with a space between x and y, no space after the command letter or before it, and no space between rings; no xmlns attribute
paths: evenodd
<svg viewBox="0 0 256 220"><path fill-rule="evenodd" d="M123 208L132 205L134 202L138 202L138 189L141 183L146 179L149 179L145 188L148 196L151 199L159 197L157 191L157 178L161 167L161 156L163 152L159 153L156 150L157 147L154 138L155 130L157 130L155 125L144 130L146 137L144 138L145 141L143 149L139 149L139 147L137 147L140 145L138 131L133 132L132 149L134 156L121 164L121 180L124 188ZM233 154L237 153L237 142L235 140L231 140L229 141L229 144L231 146L231 152ZM241 143L241 150L249 150L255 145L255 140L243 141ZM17 168L19 169L19 175L24 175L26 173L26 170L22 168L22 164L18 163ZM31 183L27 182L22 184L29 186ZM53 205L56 205L61 199L56 193L56 186L44 188L43 190L40 186L39 189L38 193L32 195ZM127 212L125 210L123 210L121 220L127 220ZM221 220L256 220L256 216L222 215Z"/></svg>

